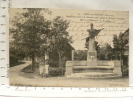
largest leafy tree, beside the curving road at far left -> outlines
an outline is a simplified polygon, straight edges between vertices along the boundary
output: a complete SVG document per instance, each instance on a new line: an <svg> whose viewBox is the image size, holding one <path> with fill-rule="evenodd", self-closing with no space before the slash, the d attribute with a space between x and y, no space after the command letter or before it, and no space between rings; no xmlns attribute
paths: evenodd
<svg viewBox="0 0 133 100"><path fill-rule="evenodd" d="M43 11L47 9L23 9L11 20L13 44L25 55L31 56L33 70L36 53L44 43L42 35L49 32L50 21L44 19Z"/></svg>

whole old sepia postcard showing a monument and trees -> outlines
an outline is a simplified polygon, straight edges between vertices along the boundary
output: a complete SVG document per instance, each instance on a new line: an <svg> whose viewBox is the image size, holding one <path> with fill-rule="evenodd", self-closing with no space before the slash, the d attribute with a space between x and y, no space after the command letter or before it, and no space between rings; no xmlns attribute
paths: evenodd
<svg viewBox="0 0 133 100"><path fill-rule="evenodd" d="M10 85L128 87L129 12L10 8Z"/></svg>

